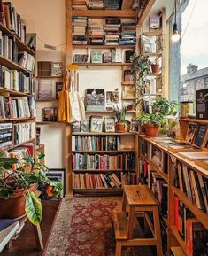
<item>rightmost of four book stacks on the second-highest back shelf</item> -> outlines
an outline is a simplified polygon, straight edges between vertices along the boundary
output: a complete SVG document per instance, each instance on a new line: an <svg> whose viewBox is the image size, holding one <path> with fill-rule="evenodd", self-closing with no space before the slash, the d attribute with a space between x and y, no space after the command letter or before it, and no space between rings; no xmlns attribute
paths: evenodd
<svg viewBox="0 0 208 256"><path fill-rule="evenodd" d="M121 38L120 45L135 45L136 44L136 25L135 20L121 20Z"/></svg>

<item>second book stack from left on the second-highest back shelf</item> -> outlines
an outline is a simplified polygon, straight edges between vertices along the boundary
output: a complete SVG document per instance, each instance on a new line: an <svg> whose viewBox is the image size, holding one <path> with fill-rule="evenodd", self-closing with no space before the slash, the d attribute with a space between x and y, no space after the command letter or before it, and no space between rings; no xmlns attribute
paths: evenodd
<svg viewBox="0 0 208 256"><path fill-rule="evenodd" d="M92 45L104 44L103 19L89 19L89 43Z"/></svg>

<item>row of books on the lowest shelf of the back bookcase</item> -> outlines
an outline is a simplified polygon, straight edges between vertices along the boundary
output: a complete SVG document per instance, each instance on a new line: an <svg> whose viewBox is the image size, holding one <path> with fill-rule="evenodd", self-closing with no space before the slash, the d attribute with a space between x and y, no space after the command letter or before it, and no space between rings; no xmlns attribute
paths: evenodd
<svg viewBox="0 0 208 256"><path fill-rule="evenodd" d="M111 175L73 173L73 189L121 188L124 185L135 183L135 173L112 173Z"/></svg>

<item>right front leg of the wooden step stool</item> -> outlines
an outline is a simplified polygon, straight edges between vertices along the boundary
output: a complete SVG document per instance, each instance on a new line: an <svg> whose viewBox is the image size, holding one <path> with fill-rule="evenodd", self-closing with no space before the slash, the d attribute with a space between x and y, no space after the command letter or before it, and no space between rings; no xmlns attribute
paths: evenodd
<svg viewBox="0 0 208 256"><path fill-rule="evenodd" d="M158 206L154 207L153 218L154 218L155 238L157 239L157 256L163 256Z"/></svg>

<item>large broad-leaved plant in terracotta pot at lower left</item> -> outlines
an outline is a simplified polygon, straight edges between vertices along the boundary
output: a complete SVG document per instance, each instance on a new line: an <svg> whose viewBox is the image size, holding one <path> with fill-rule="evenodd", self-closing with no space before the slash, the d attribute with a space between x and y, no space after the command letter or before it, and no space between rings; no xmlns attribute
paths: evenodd
<svg viewBox="0 0 208 256"><path fill-rule="evenodd" d="M41 222L42 204L35 196L38 182L49 184L53 196L58 196L62 190L61 182L47 178L48 168L40 162L43 157L42 153L36 159L29 156L21 159L20 164L18 159L7 158L5 152L0 151L0 218L14 219L26 213L34 225Z"/></svg>

